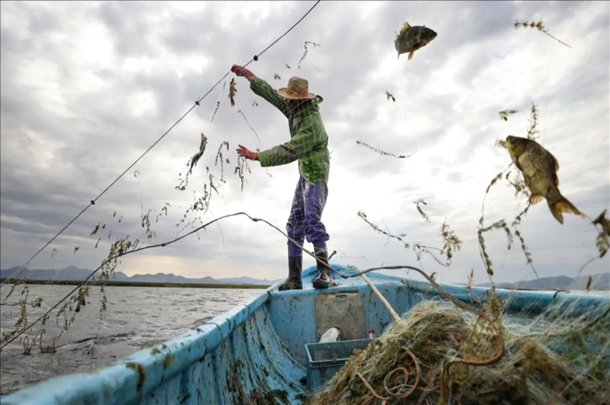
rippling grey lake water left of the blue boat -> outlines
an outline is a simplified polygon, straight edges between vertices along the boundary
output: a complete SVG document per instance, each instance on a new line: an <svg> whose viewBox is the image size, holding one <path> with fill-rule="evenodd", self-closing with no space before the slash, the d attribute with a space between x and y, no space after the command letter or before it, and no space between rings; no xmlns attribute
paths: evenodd
<svg viewBox="0 0 610 405"><path fill-rule="evenodd" d="M43 297L41 307L28 306L32 322L63 298L74 286L29 285L29 298ZM19 318L21 286L0 306L0 330L12 331ZM2 287L2 301L10 285ZM0 353L0 395L43 379L74 371L87 371L127 356L145 346L173 339L182 332L226 312L264 290L257 289L172 289L159 287L108 287L106 319L99 321L99 287L91 290L87 305L77 314L68 333L56 340L57 353L40 353L34 347L23 354L23 343L16 339ZM43 346L50 345L63 326L55 316L46 322ZM35 325L27 333L38 331ZM95 336L99 337L93 347ZM91 348L93 347L93 353Z"/></svg>

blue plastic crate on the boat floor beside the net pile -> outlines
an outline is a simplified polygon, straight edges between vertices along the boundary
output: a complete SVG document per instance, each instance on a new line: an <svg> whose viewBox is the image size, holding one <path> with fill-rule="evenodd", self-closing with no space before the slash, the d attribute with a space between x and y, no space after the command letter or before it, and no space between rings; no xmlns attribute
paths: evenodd
<svg viewBox="0 0 610 405"><path fill-rule="evenodd" d="M339 342L307 343L307 387L315 389L331 380L354 349L363 349L373 339L340 340Z"/></svg>

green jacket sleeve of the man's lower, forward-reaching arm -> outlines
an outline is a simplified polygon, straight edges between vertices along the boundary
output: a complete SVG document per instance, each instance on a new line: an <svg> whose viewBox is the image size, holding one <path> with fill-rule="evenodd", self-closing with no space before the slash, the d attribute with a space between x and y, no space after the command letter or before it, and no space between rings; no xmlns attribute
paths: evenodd
<svg viewBox="0 0 610 405"><path fill-rule="evenodd" d="M260 166L271 167L292 163L325 142L326 132L322 131L319 118L308 116L301 128L289 142L259 152Z"/></svg>

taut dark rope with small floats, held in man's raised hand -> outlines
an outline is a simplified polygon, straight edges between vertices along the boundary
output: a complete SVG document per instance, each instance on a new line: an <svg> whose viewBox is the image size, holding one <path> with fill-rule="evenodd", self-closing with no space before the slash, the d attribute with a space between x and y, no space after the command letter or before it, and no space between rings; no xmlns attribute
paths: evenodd
<svg viewBox="0 0 610 405"><path fill-rule="evenodd" d="M300 24L300 23L301 23L301 21L303 21L303 19L304 19L304 18L305 18L305 17L306 17L306 16L307 16L307 15L308 15L310 12L312 12L312 10L314 10L314 8L315 8L315 7L318 5L318 3L319 3L320 1L321 1L321 0L318 0L317 2L315 2L315 4L314 4L314 5L312 5L312 7L311 7L309 10L307 10L307 12L306 12L306 13L305 13L305 14L304 14L304 15L303 15L303 16L302 16L302 17L301 17L301 18L300 18L298 21L296 21L296 23L295 23L295 24L293 24L293 26L292 26L292 27L290 27L290 28L289 28L289 29L288 29L286 32L284 32L284 34L282 34L282 35L281 35L281 37L279 37L278 39L276 39L275 41L273 41L273 42L271 43L271 45L269 45L269 46L267 46L267 48L263 49L263 51L262 51L262 52L260 52L258 55L254 55L254 57L253 57L253 58L252 58L252 59L251 59L251 60L250 60L248 63L246 63L245 65L243 65L243 67L246 67L246 66L248 66L250 63L252 63L252 62L256 62L257 60L259 60L259 57L260 57L260 56L262 56L262 54L264 54L265 52L267 52L267 51L268 51L268 49L270 49L270 48L271 48L273 45L275 45L275 44L276 44L276 43L277 43L279 40L281 40L282 38L284 38L284 37L285 37L285 36L286 36L286 35L287 35L287 34L288 34L290 31L292 31L292 30L293 30L293 29L294 29L296 26L298 26L298 24ZM7 282L10 280L10 279L12 279L12 278L16 278L16 277L17 277L17 276L18 276L18 275L19 275L19 274L20 274L20 273L21 273L21 272L24 270L24 268L26 268L26 266L27 266L27 265L29 265L29 263L30 263L32 260L34 260L34 258L35 258L36 256L38 256L38 254L40 254L40 252L41 252L41 251L43 251L43 250L44 250L44 249L45 249L47 246L49 246L49 245L50 245L50 244L51 244L51 243L52 243L52 242L53 242L53 241L54 241L54 240L55 240L55 239L56 239L56 238L57 238L59 235L61 235L61 234L63 233L63 231L65 231L65 230L68 228L68 226L70 226L70 225L71 225L71 224L72 224L74 221L76 221L76 220L77 220L79 217L81 217L81 215L82 215L82 214L83 214L83 213L84 213L84 212L85 212L85 211L86 211L86 210L87 210L87 209L88 209L90 206L95 206L96 201L98 201L98 199L99 199L99 198L100 198L102 195L104 195L104 193L106 193L106 192L107 192L107 191L110 189L110 187L112 187L113 185L115 185L115 183L116 183L117 181L119 181L119 180L121 179L121 177L123 177L123 176L124 176L124 174L125 174L125 173L127 173L127 171L129 171L129 170L130 170L132 167L134 167L134 166L135 166L135 164L136 164L136 163L138 163L138 162L140 161L140 159L142 159L142 158L143 158L143 157L144 157L144 156L145 156L145 155L146 155L146 154L147 154L147 153L148 153L148 152L149 152L149 151L150 151L152 148L154 148L154 146L156 146L156 145L157 145L157 143L159 143L159 142L160 142L160 141L161 141L163 138L165 138L165 135L169 134L169 133L170 133L170 131L171 131L172 129L174 129L174 127L175 127L176 125L178 125L178 124L179 124L179 123L180 123L180 122L181 122L181 121L184 119L184 117L185 117L185 116L187 116L187 115L188 115L188 114L189 114L189 113L190 113L190 112L191 112L193 109L195 109L195 107L198 107L198 106L199 106L199 102L201 102L201 101L202 101L204 98L206 98L206 96L207 96L207 95L209 95L209 94L212 92L212 90L214 90L214 88L216 88L216 86L217 86L218 84L220 84L220 82L222 82L222 81L223 81L223 80L224 80L224 79L225 79L227 76L229 76L229 73L231 73L231 71L230 71L230 70L229 70L229 71L228 71L226 74L224 74L224 76L223 76L223 77L221 77L221 79L220 79L218 82L216 82L216 84L215 84L215 85L213 85L213 86L212 86L212 88L210 88L210 90L208 90L208 91L206 92L206 94L204 94L204 95L203 95L201 98L199 98L197 101L195 101L195 104L193 104L193 106L192 106L192 107L190 107L190 109L188 109L188 110L187 110L187 112L185 112L185 113L184 113L184 114L183 114L183 115L182 115L182 116L181 116L181 117L178 119L178 121L176 121L176 122L175 122L175 123L174 123L174 124L173 124L173 125L170 127L170 129L168 129L167 131L165 131L165 133L164 133L163 135L161 135L161 136L159 137L159 139L157 139L157 140L156 140L156 141L155 141L155 142L154 142L154 143L153 143L151 146L149 146L149 148L148 148L148 149L146 149L146 151L144 151L144 152L143 152L143 154L142 154L142 155L140 155L140 157L138 157L138 159L135 159L134 163L131 163L131 165L129 165L129 167L127 167L127 168L126 168L126 169L123 171L123 173L121 173L121 174L120 174L120 175L117 177L117 179L115 179L115 181L113 181L112 183L110 183L110 185L109 185L108 187L106 187L106 188L104 189L104 191L102 191L101 193L99 193L99 195L98 195L96 198L92 199L92 200L89 202L89 204L88 204L88 205L87 205L87 206L86 206L86 207L85 207L85 208L84 208L84 209L83 209L81 212L79 212L79 213L78 213L78 215L76 215L76 217L74 217L74 218L73 218L73 220L71 220L70 222L68 222L68 224L66 224L66 226L64 226L64 227L63 227L63 228L62 228L62 229L61 229L59 232L57 232L57 234L56 234L54 237L52 237L52 238L51 238L51 240L49 240L49 242L45 243L45 246L43 246L42 248L40 248L40 249L39 249L39 250L38 250L38 251L37 251L37 252L34 254L34 256L30 257L30 259L29 259L29 260L27 260L27 262L26 262L26 263L24 263L24 265L21 265L21 267L20 267L20 268L19 268L17 271L15 271L15 273L13 273L13 274L11 274L9 277L7 277L7 278L4 280L4 282L2 282L2 284L0 284L0 287L4 287L4 285L5 285L5 284L6 284L6 283L7 283ZM94 273L95 273L95 272L94 272ZM7 298L8 298L8 297L7 297ZM4 347L4 346L2 346L2 347Z"/></svg>

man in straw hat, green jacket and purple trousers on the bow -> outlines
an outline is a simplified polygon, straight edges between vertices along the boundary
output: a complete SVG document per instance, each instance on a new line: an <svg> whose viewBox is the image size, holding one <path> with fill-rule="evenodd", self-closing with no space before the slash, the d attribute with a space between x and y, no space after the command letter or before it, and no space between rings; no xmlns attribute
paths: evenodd
<svg viewBox="0 0 610 405"><path fill-rule="evenodd" d="M300 178L296 184L292 207L286 224L288 234L288 278L279 286L280 291L301 290L303 281L304 238L314 245L317 257L317 274L312 279L315 289L326 289L332 285L328 267L329 240L322 212L328 196L328 174L330 154L328 136L322 123L318 104L319 95L309 93L309 82L301 77L290 77L287 87L274 90L263 79L242 66L233 65L231 71L246 77L254 94L264 98L284 114L289 121L290 141L262 152L249 151L239 145L237 154L245 159L258 160L261 167L287 165L295 160L299 163ZM292 240L296 243L293 243Z"/></svg>

